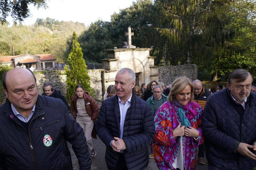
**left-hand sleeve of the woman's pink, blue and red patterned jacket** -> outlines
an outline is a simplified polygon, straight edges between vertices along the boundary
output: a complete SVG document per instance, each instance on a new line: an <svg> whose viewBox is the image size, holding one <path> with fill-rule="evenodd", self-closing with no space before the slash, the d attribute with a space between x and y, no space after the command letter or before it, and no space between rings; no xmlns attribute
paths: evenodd
<svg viewBox="0 0 256 170"><path fill-rule="evenodd" d="M167 120L166 115L169 115L169 109L166 105L162 105L157 111L155 115L155 127L156 127L156 135L154 141L159 144L171 146L176 144L176 140L172 134L172 128L170 123L171 120Z"/></svg>

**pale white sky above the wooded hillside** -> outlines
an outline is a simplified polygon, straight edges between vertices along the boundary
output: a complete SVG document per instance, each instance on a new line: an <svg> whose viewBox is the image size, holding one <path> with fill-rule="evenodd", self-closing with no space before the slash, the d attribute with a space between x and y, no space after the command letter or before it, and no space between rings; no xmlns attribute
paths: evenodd
<svg viewBox="0 0 256 170"><path fill-rule="evenodd" d="M32 25L36 18L50 17L59 21L77 21L88 26L98 19L110 21L111 14L130 7L133 1L136 2L136 0L47 0L47 9L36 9L30 5L30 17L22 24ZM12 18L8 17L7 21L12 23Z"/></svg>

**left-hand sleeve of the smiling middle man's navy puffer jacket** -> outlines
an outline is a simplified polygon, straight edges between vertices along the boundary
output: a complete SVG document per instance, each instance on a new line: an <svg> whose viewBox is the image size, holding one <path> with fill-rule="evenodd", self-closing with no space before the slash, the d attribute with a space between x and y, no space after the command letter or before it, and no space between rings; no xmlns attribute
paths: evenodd
<svg viewBox="0 0 256 170"><path fill-rule="evenodd" d="M105 102L102 103L100 107L100 114L98 116L98 119L95 123L95 128L98 136L100 137L101 141L107 146L110 147L110 142L114 140L114 136L109 131L107 127L107 115L106 115L106 108L105 108Z"/></svg>

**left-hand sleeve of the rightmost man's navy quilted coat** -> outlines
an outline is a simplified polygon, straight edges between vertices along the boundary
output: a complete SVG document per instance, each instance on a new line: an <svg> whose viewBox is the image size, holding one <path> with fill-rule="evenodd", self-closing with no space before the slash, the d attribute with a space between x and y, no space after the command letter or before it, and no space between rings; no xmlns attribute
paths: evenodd
<svg viewBox="0 0 256 170"><path fill-rule="evenodd" d="M236 140L227 134L221 132L217 126L217 114L215 108L219 106L214 106L214 101L210 96L207 99L206 105L204 107L204 116L202 122L202 130L204 138L210 141L212 144L225 149L227 152L231 153L235 147ZM237 150L237 148L236 148ZM235 151L236 152L236 151Z"/></svg>

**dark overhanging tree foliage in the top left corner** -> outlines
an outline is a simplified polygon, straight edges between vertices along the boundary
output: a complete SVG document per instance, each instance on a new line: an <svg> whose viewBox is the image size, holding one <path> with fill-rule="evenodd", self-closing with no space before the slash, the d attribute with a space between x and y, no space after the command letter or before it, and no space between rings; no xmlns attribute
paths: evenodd
<svg viewBox="0 0 256 170"><path fill-rule="evenodd" d="M33 4L40 7L46 7L45 0L0 0L0 22L6 22L6 18L11 15L15 21L23 21L29 17L28 5Z"/></svg>

